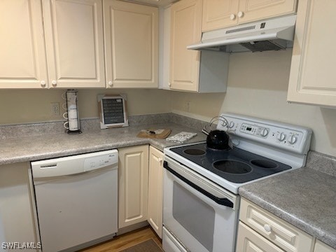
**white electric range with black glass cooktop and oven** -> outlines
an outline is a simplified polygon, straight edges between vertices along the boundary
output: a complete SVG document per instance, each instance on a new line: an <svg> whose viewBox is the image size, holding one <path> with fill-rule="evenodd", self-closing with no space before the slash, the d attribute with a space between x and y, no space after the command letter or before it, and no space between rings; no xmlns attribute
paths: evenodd
<svg viewBox="0 0 336 252"><path fill-rule="evenodd" d="M233 252L240 186L304 166L311 130L225 113L228 151L196 143L165 148L165 251Z"/></svg>

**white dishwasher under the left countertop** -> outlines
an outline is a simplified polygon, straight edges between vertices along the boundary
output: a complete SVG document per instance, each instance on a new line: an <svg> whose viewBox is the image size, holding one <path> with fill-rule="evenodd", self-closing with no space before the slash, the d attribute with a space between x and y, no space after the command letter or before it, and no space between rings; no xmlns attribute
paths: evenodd
<svg viewBox="0 0 336 252"><path fill-rule="evenodd" d="M118 151L31 162L42 251L77 251L118 231Z"/></svg>

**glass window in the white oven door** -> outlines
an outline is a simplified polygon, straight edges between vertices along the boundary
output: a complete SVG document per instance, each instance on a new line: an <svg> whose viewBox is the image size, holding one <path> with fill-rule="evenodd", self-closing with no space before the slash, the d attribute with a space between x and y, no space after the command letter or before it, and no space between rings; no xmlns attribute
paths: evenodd
<svg viewBox="0 0 336 252"><path fill-rule="evenodd" d="M174 219L208 251L212 251L216 216L214 208L174 181L172 210Z"/></svg>

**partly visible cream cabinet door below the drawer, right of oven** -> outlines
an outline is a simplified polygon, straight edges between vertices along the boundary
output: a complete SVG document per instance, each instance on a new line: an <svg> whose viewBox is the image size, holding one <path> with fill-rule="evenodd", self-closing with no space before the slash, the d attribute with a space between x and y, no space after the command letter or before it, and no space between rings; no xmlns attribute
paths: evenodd
<svg viewBox="0 0 336 252"><path fill-rule="evenodd" d="M281 248L267 241L257 232L239 221L237 252L284 252Z"/></svg>

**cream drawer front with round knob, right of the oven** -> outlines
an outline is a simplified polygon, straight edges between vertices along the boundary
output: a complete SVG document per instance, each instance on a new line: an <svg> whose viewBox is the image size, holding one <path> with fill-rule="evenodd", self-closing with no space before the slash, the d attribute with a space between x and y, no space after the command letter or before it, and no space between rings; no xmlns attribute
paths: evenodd
<svg viewBox="0 0 336 252"><path fill-rule="evenodd" d="M311 251L313 238L248 200L241 199L240 220L285 251Z"/></svg>

